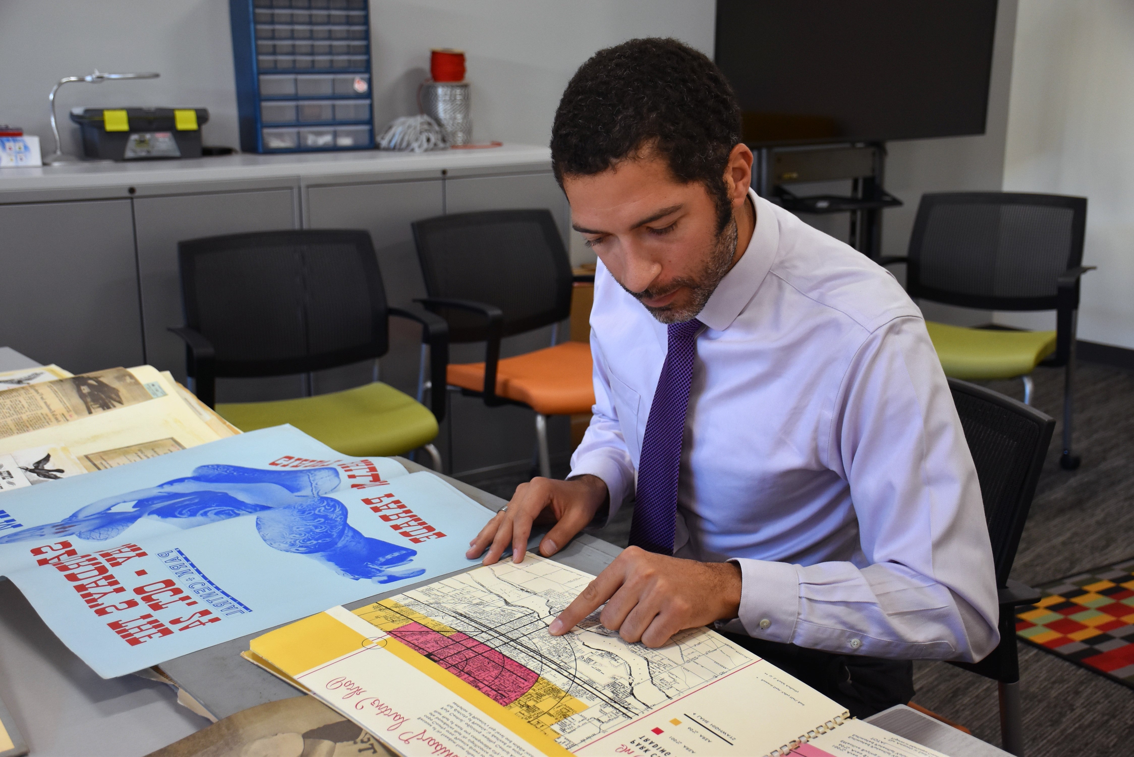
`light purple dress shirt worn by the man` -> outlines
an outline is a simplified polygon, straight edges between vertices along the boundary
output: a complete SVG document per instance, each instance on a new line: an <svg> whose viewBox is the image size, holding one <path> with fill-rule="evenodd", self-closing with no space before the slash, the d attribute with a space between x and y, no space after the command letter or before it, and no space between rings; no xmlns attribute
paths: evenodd
<svg viewBox="0 0 1134 757"><path fill-rule="evenodd" d="M975 661L998 640L981 490L917 306L886 270L750 193L756 226L697 318L675 555L739 564L725 630ZM594 415L572 457L634 487L666 326L600 263Z"/></svg>

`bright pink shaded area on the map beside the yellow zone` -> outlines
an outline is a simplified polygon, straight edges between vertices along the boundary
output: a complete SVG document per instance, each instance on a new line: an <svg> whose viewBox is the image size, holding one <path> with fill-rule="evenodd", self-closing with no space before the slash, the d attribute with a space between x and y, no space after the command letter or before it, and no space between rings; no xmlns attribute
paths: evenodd
<svg viewBox="0 0 1134 757"><path fill-rule="evenodd" d="M501 705L519 699L540 678L530 667L460 632L445 636L421 623L407 623L390 631L390 636Z"/></svg>

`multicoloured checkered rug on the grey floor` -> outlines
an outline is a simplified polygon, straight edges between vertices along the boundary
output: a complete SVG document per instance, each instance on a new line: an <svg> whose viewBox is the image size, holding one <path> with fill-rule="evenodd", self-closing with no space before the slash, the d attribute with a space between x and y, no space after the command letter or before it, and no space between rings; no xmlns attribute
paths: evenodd
<svg viewBox="0 0 1134 757"><path fill-rule="evenodd" d="M1134 689L1134 560L1039 587L1016 636Z"/></svg>

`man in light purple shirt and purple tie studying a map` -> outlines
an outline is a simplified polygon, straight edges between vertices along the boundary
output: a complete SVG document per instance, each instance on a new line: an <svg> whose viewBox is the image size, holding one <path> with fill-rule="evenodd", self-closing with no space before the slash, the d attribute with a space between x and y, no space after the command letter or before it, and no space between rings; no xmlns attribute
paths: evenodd
<svg viewBox="0 0 1134 757"><path fill-rule="evenodd" d="M921 313L894 278L748 187L717 67L675 40L602 50L552 127L598 253L594 417L472 542L561 549L636 488L631 547L552 622L658 647L716 623L868 715L915 658L998 642L980 486ZM608 508L604 511L603 508Z"/></svg>

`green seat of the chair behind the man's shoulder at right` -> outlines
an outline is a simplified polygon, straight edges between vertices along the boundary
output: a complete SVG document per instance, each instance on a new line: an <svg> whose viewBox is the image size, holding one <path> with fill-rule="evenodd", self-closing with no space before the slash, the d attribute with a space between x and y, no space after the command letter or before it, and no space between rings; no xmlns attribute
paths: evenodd
<svg viewBox="0 0 1134 757"><path fill-rule="evenodd" d="M1056 350L1055 331L964 328L925 321L946 376L964 380L1027 376Z"/></svg>

